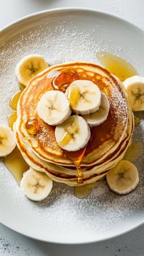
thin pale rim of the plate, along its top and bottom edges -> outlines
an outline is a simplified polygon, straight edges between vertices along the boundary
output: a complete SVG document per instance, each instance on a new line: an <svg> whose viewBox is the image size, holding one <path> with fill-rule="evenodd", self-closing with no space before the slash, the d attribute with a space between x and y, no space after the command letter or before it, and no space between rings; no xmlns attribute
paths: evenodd
<svg viewBox="0 0 144 256"><path fill-rule="evenodd" d="M139 30L141 33L143 33L144 35L144 30L135 25L134 23L128 21L128 20L125 20L123 18L121 18L120 16L117 16L117 15L113 15L112 13L110 12L106 12L106 11L102 11L102 10L98 10L98 9L92 9L92 8L81 8L81 7L61 7L61 8L54 8L54 9L46 9L46 10L42 10L40 12L34 12L34 13L31 13L29 15L25 15L21 18L18 18L16 19L15 21L12 21L11 23L7 24L6 26L2 27L0 29L0 35L2 32L6 31L7 29L10 29L12 26L15 26L15 24L20 24L20 23L23 23L23 21L29 19L29 18L33 18L35 16L39 16L39 15L43 15L43 14L46 14L48 13L67 13L67 12L90 12L90 13L100 13L101 15L105 15L105 16L108 16L110 18L113 18L113 19L116 19L124 24L128 24L128 26L131 26L131 27L134 27L135 29ZM131 228L128 228L128 229L125 229L123 230L123 232L117 232L116 234L114 235L109 235L109 236L104 236L104 238L97 238L95 240L87 240L87 241L72 241L71 243L70 242L62 242L62 241L52 241L52 240L46 240L44 238L40 238L38 237L37 235L36 236L32 236L32 235L27 235L26 232L22 232L21 230L16 230L13 225L10 225L10 224L6 224L4 221L2 222L1 219L0 219L0 223L2 225L4 225L5 227L8 227L9 229L12 229L13 231L17 232L17 233L20 233L21 235L24 235L24 236L27 236L29 238L32 238L32 239L35 239L35 240L38 240L38 241L44 241L44 242L47 242L47 243L52 243L52 244L90 244L90 243L97 243L97 242L100 242L100 241L106 241L106 240L109 240L109 239L112 239L112 238L115 238L117 236L120 236L120 235L124 235L125 233L128 233L128 232L131 232L132 230L136 229L137 227L139 227L140 225L143 225L144 224L144 219L143 221L140 221L138 224L136 225L132 225Z"/></svg>

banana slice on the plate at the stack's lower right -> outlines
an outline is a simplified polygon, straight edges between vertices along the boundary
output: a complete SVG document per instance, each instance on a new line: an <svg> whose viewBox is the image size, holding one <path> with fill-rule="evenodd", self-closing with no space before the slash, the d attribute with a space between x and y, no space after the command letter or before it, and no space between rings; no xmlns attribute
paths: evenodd
<svg viewBox="0 0 144 256"><path fill-rule="evenodd" d="M106 175L107 185L117 194L128 194L139 183L139 174L134 164L126 160L118 162L117 166Z"/></svg>

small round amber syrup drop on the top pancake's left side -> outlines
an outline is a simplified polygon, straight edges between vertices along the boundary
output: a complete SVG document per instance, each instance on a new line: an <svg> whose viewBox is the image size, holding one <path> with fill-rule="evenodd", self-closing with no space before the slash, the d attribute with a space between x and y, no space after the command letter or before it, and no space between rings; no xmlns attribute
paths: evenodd
<svg viewBox="0 0 144 256"><path fill-rule="evenodd" d="M38 131L38 120L35 117L31 117L26 122L26 131L29 135L35 135Z"/></svg>

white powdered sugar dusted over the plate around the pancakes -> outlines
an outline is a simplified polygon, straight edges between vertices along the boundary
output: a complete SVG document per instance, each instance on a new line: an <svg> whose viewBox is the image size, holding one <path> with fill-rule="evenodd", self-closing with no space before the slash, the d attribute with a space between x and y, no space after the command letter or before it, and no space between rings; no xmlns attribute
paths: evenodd
<svg viewBox="0 0 144 256"><path fill-rule="evenodd" d="M60 21L55 27L50 24L39 26L33 31L27 31L25 35L18 35L10 42L3 43L0 53L0 123L7 123L7 115L11 111L10 97L18 90L15 65L22 57L38 53L44 56L50 65L71 60L96 63L97 50L110 50L106 44L103 48L106 38L95 41L92 35L96 33L96 29L98 27L90 32L84 29L79 31L71 21ZM113 51L117 53L121 51L121 46L114 48ZM137 140L140 138L140 141L144 141L143 129L144 122L141 122L135 130ZM27 229L31 221L36 221L43 224L43 227L45 225L48 229L51 227L63 233L69 232L75 237L85 236L86 233L98 235L124 225L128 218L138 216L143 211L142 156L136 165L140 172L140 184L135 191L126 196L118 196L111 192L104 181L98 188L93 189L90 196L77 199L74 197L73 188L54 183L49 197L41 203L34 203L24 197L12 175L1 163L1 202L7 207L7 211L12 211L12 216L15 216L15 209L24 219L27 216Z"/></svg>

